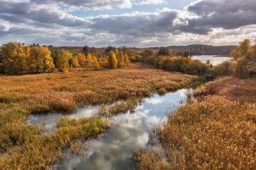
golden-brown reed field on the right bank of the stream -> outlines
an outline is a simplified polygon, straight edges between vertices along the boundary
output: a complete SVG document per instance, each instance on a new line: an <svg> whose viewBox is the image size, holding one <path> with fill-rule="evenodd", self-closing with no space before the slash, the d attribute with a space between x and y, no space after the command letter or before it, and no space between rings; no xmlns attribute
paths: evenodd
<svg viewBox="0 0 256 170"><path fill-rule="evenodd" d="M224 77L195 90L158 128L163 151L137 152L139 169L255 169L256 81Z"/></svg>

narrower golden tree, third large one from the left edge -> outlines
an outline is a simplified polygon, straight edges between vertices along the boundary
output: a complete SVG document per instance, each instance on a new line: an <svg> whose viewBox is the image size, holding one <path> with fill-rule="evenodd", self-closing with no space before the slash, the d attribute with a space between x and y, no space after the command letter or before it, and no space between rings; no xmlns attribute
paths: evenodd
<svg viewBox="0 0 256 170"><path fill-rule="evenodd" d="M72 54L69 51L61 50L58 54L56 66L59 71L68 71L69 69L69 60L72 58Z"/></svg>

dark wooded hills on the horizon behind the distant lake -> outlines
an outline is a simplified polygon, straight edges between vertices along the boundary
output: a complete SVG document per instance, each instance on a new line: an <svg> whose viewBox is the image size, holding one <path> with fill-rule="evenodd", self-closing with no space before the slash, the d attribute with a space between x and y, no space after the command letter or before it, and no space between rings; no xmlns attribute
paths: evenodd
<svg viewBox="0 0 256 170"><path fill-rule="evenodd" d="M176 56L182 56L185 52L190 52L192 55L230 55L230 52L236 46L207 46L207 45L189 45L189 46L167 46L172 49ZM151 50L157 50L158 47L151 47Z"/></svg>

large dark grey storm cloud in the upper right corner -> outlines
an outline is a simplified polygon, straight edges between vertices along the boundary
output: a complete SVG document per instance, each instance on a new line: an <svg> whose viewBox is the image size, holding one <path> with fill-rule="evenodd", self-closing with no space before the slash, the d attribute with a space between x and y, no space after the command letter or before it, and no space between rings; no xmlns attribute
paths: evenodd
<svg viewBox="0 0 256 170"><path fill-rule="evenodd" d="M212 28L235 29L256 24L255 0L204 0L187 10L198 17L188 19L187 27L181 28L185 32L207 34Z"/></svg>

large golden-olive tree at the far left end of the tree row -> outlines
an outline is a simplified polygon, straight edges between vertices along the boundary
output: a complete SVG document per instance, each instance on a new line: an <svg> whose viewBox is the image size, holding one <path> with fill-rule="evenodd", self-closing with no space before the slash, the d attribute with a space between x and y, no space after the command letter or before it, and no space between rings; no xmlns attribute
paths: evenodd
<svg viewBox="0 0 256 170"><path fill-rule="evenodd" d="M26 63L26 54L22 44L9 42L3 44L3 69L5 73L16 74L25 71L24 63Z"/></svg>

